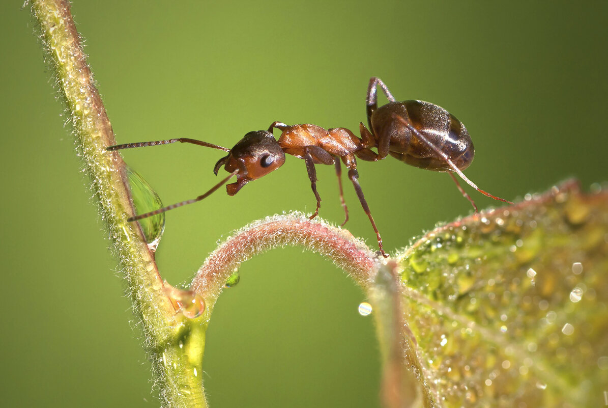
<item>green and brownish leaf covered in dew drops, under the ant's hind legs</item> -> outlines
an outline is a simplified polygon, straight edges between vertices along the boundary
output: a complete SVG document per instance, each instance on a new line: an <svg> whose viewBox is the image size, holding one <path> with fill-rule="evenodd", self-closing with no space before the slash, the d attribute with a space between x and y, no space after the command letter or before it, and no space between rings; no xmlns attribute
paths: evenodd
<svg viewBox="0 0 608 408"><path fill-rule="evenodd" d="M608 192L527 195L397 261L419 406L608 405Z"/></svg>

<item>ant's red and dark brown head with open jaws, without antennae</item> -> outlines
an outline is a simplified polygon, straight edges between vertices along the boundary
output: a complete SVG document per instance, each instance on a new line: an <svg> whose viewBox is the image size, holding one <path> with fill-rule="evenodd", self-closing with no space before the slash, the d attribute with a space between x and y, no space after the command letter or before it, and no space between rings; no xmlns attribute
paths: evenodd
<svg viewBox="0 0 608 408"><path fill-rule="evenodd" d="M235 195L251 180L278 169L285 163L285 153L270 132L249 132L230 149L226 157L219 159L213 172L217 175L224 166L227 172L238 170L237 181L226 186L228 195Z"/></svg>

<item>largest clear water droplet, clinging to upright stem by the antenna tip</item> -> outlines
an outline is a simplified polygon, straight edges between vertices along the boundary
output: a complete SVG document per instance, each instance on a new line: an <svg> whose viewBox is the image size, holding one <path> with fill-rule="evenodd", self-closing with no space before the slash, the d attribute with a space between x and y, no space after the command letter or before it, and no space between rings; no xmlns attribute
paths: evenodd
<svg viewBox="0 0 608 408"><path fill-rule="evenodd" d="M148 184L148 181L130 167L127 166L126 169L131 184L131 199L133 199L133 206L137 214L162 208L161 198ZM165 213L139 220L139 225L148 242L148 248L153 252L156 251L165 230Z"/></svg>

